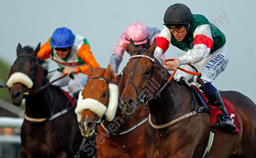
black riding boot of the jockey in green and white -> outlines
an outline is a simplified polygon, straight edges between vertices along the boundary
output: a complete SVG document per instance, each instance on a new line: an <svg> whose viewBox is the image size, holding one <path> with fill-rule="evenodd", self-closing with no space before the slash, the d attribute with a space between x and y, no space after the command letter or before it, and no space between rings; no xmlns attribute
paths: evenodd
<svg viewBox="0 0 256 158"><path fill-rule="evenodd" d="M220 116L221 122L215 123L215 125L213 125L213 128L223 129L230 132L236 130L236 126L232 122L232 119L229 117L229 114L227 113L227 110L223 104L223 101L220 97L218 90L216 90L214 93L206 97L208 98L209 103L212 106L216 106L222 111L222 115Z"/></svg>

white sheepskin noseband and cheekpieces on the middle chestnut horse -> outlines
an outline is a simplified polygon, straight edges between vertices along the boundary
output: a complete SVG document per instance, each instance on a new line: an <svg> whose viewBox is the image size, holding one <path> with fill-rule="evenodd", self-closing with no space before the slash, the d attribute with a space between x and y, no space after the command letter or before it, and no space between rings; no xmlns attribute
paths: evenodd
<svg viewBox="0 0 256 158"><path fill-rule="evenodd" d="M106 116L107 121L112 121L115 118L116 110L118 106L118 86L112 83L108 84L109 89L109 100L108 108L101 102L95 99L86 98L83 99L82 90L79 93L77 100L77 106L75 113L77 114L77 121L81 121L81 116L84 110L89 109L94 112L97 116L102 117L103 114Z"/></svg>

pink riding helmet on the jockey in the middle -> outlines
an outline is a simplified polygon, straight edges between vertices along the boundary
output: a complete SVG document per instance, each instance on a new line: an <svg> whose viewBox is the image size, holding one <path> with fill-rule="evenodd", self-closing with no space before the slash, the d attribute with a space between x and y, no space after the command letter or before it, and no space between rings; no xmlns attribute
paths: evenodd
<svg viewBox="0 0 256 158"><path fill-rule="evenodd" d="M130 39L133 40L135 45L141 45L147 42L148 29L145 25L137 22L130 24L124 33L124 42L129 44Z"/></svg>

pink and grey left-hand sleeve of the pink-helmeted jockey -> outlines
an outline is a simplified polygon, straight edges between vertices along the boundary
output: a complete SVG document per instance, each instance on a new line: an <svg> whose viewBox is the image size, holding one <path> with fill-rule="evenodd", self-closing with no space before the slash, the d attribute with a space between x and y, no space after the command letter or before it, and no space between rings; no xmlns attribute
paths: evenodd
<svg viewBox="0 0 256 158"><path fill-rule="evenodd" d="M128 45L124 42L124 35L121 35L116 42L113 50L113 54L110 57L110 67L111 70L117 72L120 63L123 59L123 53L127 49Z"/></svg>

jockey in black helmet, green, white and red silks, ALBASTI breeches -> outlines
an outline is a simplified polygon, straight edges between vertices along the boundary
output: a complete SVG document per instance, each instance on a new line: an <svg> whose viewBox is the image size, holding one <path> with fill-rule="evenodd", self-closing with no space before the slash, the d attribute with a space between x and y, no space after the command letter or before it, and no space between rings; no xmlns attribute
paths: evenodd
<svg viewBox="0 0 256 158"><path fill-rule="evenodd" d="M236 126L229 117L218 90L211 84L212 81L226 69L228 51L224 34L208 21L203 15L194 15L183 4L171 5L164 15L164 29L156 39L154 56L159 59L169 48L170 43L184 52L178 53L179 58L168 63L170 70L177 67L195 71L186 64L192 64L201 72L204 86L196 81L197 76L177 70L174 79L184 77L188 82L195 82L204 92L212 106L222 111L221 123L216 123L216 129L234 131Z"/></svg>

